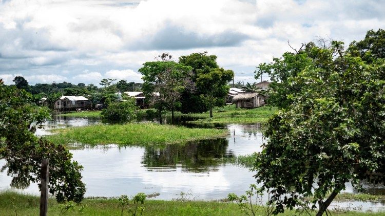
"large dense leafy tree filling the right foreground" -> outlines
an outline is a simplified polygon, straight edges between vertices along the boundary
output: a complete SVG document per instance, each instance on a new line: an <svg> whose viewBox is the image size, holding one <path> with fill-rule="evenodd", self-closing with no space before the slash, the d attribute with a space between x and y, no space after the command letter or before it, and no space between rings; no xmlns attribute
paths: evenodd
<svg viewBox="0 0 385 216"><path fill-rule="evenodd" d="M361 190L363 179L385 182L385 60L365 62L341 45L308 50L313 63L286 79L301 88L286 94L292 102L267 122L269 139L254 169L274 213L304 202L318 204L322 215L345 183Z"/></svg>

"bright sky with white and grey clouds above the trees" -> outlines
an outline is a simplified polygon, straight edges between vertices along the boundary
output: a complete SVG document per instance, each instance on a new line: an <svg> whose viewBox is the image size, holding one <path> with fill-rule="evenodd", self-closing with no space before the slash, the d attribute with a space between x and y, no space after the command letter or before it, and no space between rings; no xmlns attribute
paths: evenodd
<svg viewBox="0 0 385 216"><path fill-rule="evenodd" d="M258 64L292 51L288 41L348 46L384 29L383 11L381 0L0 0L0 79L142 82L138 69L162 53L207 51L235 82L255 82Z"/></svg>

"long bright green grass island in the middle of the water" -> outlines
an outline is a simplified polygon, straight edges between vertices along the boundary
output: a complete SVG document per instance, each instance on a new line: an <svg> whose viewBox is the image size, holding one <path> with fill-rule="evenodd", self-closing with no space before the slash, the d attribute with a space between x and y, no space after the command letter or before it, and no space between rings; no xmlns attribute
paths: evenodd
<svg viewBox="0 0 385 216"><path fill-rule="evenodd" d="M46 138L54 143L88 145L151 145L181 143L191 140L218 138L227 135L226 129L187 128L155 123L90 125L53 129Z"/></svg>

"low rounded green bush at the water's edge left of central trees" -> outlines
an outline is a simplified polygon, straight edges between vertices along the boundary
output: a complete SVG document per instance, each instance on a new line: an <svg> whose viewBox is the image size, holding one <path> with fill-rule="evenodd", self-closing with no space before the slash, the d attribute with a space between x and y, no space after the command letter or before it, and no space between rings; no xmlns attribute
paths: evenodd
<svg viewBox="0 0 385 216"><path fill-rule="evenodd" d="M133 98L124 101L112 102L106 109L102 110L102 118L109 120L127 121L136 117L138 107Z"/></svg>

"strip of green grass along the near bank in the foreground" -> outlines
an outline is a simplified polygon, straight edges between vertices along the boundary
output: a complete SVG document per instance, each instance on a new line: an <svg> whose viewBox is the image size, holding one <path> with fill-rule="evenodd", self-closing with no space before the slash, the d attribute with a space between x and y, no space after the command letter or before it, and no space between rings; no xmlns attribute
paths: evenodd
<svg viewBox="0 0 385 216"><path fill-rule="evenodd" d="M40 197L31 195L21 195L12 191L0 192L0 215L38 215ZM54 199L48 201L48 215L62 215L63 204L58 204ZM82 214L79 208L84 206ZM130 202L132 207L132 202ZM144 203L145 211L143 215L245 215L240 207L235 203L204 202L204 201L162 201L146 200ZM64 215L120 215L120 204L118 199L85 199L80 205L69 209ZM16 213L17 212L17 213ZM383 215L384 212L342 212L338 215L358 216L358 215ZM279 215L294 215L295 211L285 210ZM130 215L125 208L123 215ZM257 215L263 215L260 208ZM315 215L315 213L313 213Z"/></svg>

